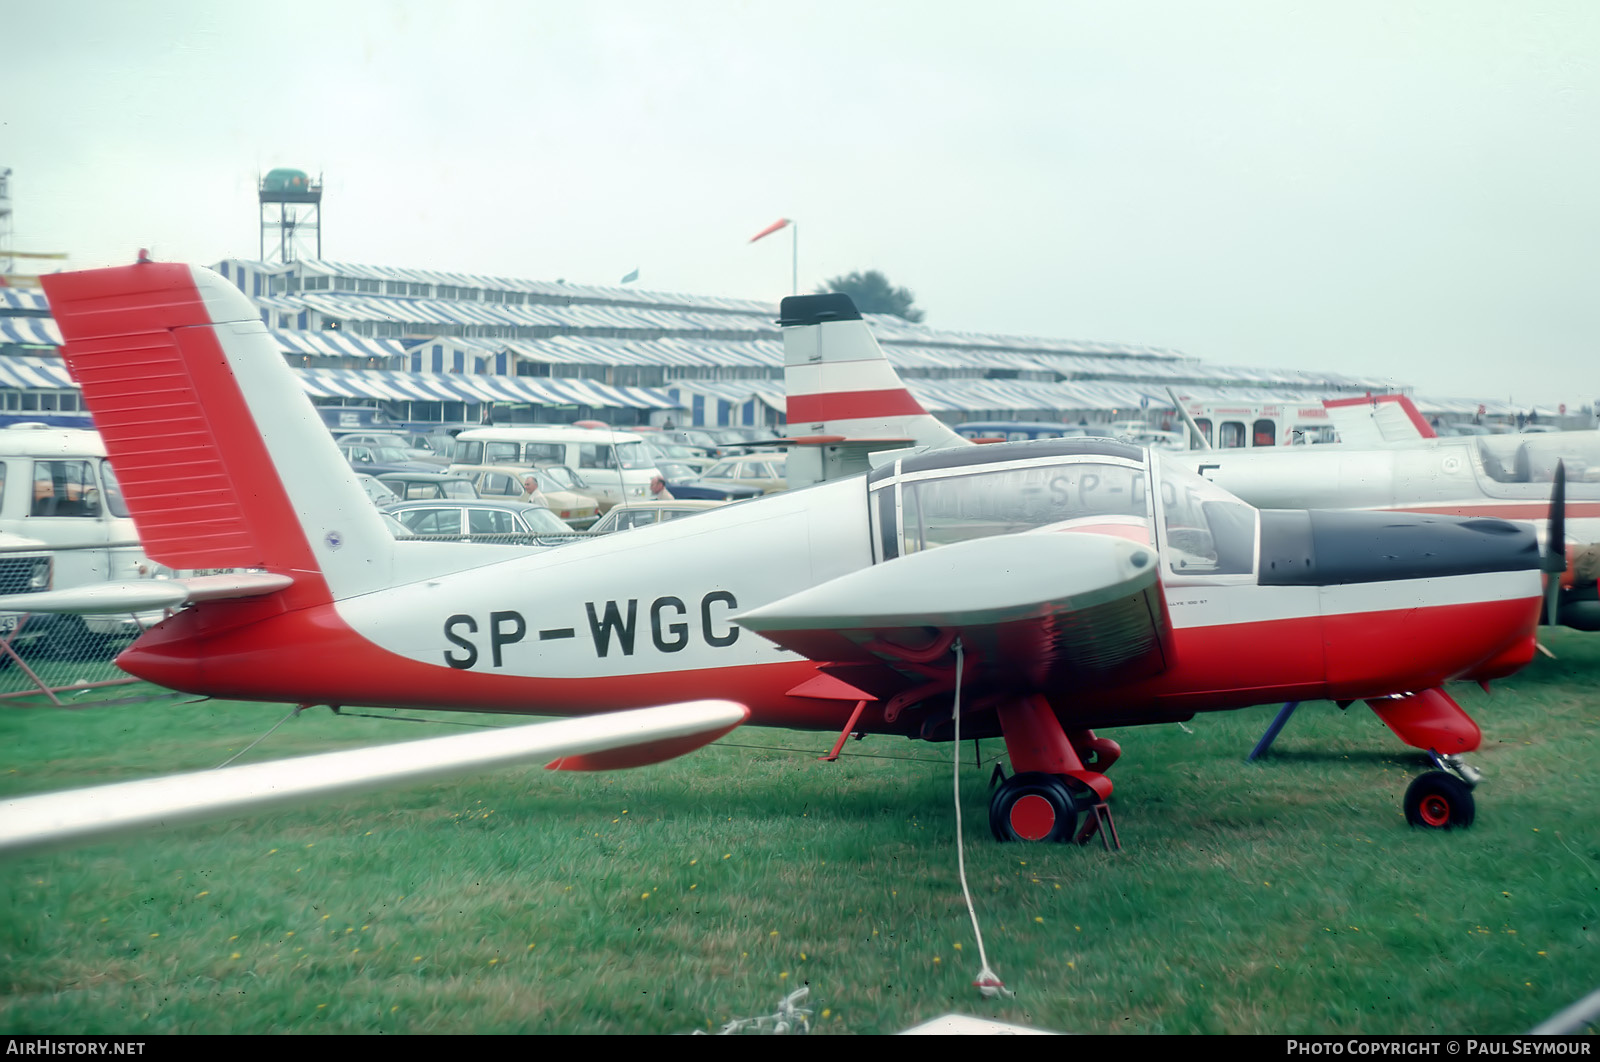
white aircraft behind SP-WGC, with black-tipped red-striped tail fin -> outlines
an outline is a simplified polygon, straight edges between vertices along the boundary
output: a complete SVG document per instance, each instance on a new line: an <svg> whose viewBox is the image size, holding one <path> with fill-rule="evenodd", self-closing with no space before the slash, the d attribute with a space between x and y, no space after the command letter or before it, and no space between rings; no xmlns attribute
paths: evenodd
<svg viewBox="0 0 1600 1062"><path fill-rule="evenodd" d="M784 384L789 430L806 443L789 456L790 486L854 473L896 448L973 445L917 403L859 321L832 333L786 328ZM1402 395L1325 405L1360 445L1192 449L1165 461L1261 509L1496 517L1528 521L1541 537L1562 465L1557 537L1568 563L1546 622L1600 630L1600 432L1437 438Z"/></svg>

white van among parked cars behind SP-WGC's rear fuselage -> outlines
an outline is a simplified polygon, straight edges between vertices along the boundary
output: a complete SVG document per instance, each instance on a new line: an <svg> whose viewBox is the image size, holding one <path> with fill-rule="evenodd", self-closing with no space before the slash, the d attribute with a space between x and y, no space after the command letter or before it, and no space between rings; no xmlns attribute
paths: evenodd
<svg viewBox="0 0 1600 1062"><path fill-rule="evenodd" d="M638 501L650 494L650 481L659 475L645 440L627 432L587 427L477 427L456 435L451 472L477 465L538 469L563 464L584 478L587 493L610 509L624 499Z"/></svg>

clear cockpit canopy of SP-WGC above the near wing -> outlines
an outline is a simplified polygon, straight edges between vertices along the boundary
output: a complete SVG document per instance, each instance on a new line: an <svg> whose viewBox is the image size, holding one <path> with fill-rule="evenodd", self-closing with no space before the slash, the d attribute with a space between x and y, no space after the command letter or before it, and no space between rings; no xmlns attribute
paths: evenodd
<svg viewBox="0 0 1600 1062"><path fill-rule="evenodd" d="M1253 507L1109 440L917 454L874 470L867 489L880 561L998 534L1098 533L1165 547L1173 576L1254 573Z"/></svg>

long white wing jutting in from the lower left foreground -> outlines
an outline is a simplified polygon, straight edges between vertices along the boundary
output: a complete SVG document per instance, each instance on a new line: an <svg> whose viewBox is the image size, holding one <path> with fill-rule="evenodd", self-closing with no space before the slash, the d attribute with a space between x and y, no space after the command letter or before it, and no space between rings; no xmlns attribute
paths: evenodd
<svg viewBox="0 0 1600 1062"><path fill-rule="evenodd" d="M656 709L533 723L480 734L325 752L221 771L120 782L0 801L0 856L83 844L128 830L222 819L336 793L427 782L618 749L650 749L725 734L749 718L731 701L690 701ZM704 744L704 741L698 744Z"/></svg>

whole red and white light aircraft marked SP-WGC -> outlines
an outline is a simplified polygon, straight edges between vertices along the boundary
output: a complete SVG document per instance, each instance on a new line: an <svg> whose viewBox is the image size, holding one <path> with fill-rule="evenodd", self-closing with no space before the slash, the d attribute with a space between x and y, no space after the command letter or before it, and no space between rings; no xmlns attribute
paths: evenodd
<svg viewBox="0 0 1600 1062"><path fill-rule="evenodd" d="M1094 728L1314 697L1365 699L1430 750L1408 817L1466 824L1458 757L1478 729L1440 685L1507 675L1534 648L1526 528L1259 512L1109 440L906 456L554 549L395 541L227 281L141 264L45 285L147 553L248 571L0 609L187 603L118 657L174 689L541 715L718 697L838 745L946 741L954 710L1016 771L990 800L995 835L1067 840L1112 789L1120 750ZM870 344L843 296L782 313L824 357Z"/></svg>

